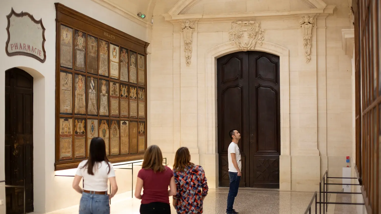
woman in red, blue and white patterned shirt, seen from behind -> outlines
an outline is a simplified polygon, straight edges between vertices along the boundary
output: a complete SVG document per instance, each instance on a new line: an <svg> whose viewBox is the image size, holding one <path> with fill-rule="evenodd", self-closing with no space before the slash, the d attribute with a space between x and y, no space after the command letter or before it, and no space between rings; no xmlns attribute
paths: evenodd
<svg viewBox="0 0 381 214"><path fill-rule="evenodd" d="M208 194L207 178L199 165L191 163L187 147L176 151L173 165L177 194L173 206L178 214L202 214L203 200Z"/></svg>

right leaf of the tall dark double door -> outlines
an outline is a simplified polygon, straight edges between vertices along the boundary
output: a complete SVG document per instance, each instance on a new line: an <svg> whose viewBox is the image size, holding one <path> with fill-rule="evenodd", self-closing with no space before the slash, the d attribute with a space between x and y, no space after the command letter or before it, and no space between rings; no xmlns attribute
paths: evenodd
<svg viewBox="0 0 381 214"><path fill-rule="evenodd" d="M280 84L279 57L249 53L250 187L279 188Z"/></svg>

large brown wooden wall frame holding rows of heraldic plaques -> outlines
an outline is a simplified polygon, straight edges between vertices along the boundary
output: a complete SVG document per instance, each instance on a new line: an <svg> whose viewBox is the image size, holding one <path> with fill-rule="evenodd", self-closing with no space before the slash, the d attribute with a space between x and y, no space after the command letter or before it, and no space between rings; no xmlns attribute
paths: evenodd
<svg viewBox="0 0 381 214"><path fill-rule="evenodd" d="M54 169L55 170L64 170L64 169L70 169L70 168L75 168L78 166L78 163L80 163L82 160L85 160L87 157L88 157L88 148L89 148L89 145L88 145L88 130L87 130L87 126L89 125L89 120L91 120L92 124L95 124L95 123L98 123L96 125L94 125L94 127L98 128L97 132L99 132L99 127L101 127L101 122L102 122L102 127L106 127L105 125L107 125L107 140L108 142L106 142L106 150L107 148L110 148L109 149L109 154L107 155L107 158L110 160L110 162L112 163L117 163L117 162L125 162L125 161L131 161L131 160L140 160L140 159L143 159L144 157L144 151L145 149L147 148L147 84L146 84L146 80L147 80L147 46L149 45L149 43L145 42L145 41L142 41L142 40L139 40L137 38L134 38L133 36L130 36L126 33L123 33L121 32L120 30L117 30L113 27L110 27L109 25L106 25L102 22L99 22L99 21L96 21L95 19L91 18L91 17L88 17L88 16L85 16L84 14L82 13L79 13L75 10L72 10L64 5L62 5L61 3L55 3L54 4L55 7L56 7L56 142L55 142L55 163L54 163ZM71 48L70 51L72 52L65 52L62 57L66 57L66 59L69 59L71 60L71 68L70 66L69 67L65 67L65 66L61 66L61 25L64 26L63 28L64 29L71 29L71 33L72 34L69 34L70 32L69 31L64 31L65 33L67 33L66 35L71 35L72 38L68 38L68 40L71 40ZM77 34L78 36L76 37L78 40L80 40L80 43L77 43L77 44L74 44L75 42L75 33L77 32L81 32L80 34ZM83 42L83 39L79 39L80 37L82 37L84 35L84 42ZM91 47L94 47L96 46L96 74L94 73L91 73L89 72L88 70L88 38L89 36L93 36L94 38L97 39L97 42L96 43L92 43L93 46ZM95 41L95 40L91 40L91 41ZM100 74L100 65L105 65L104 62L106 62L105 60L105 57L104 55L102 56L102 59L101 58L101 50L100 50L100 43L101 41L105 41L105 42L102 42L103 45L108 45L107 46L107 75L106 73L102 73ZM85 48L83 48L83 43L85 43ZM77 45L78 44L81 44L79 47L80 49L78 49ZM66 44L65 44L66 45ZM110 45L114 45L115 46L115 51L113 49L113 52L110 53ZM106 50L104 47L106 46L102 46L102 53ZM130 61L131 61L131 55L130 55L130 52L133 51L134 53L136 53L136 56L138 56L139 54L140 55L143 55L144 56L144 61L141 61L139 63L144 63L144 70L140 70L142 72L144 72L144 75L143 73L141 73L141 77L144 76L144 82L145 84L142 86L142 85L139 85L139 81L135 83L131 83L131 82L127 82L125 80L121 80L121 51L122 51L122 48L124 48L125 50L127 50L127 57L128 57L128 64L127 64L127 75L129 77L130 75ZM118 50L117 50L118 49ZM67 50L67 49L66 49ZM83 51L85 52L85 54L82 53L82 57L85 57L85 58L78 58L77 55L75 55L76 53L78 54L79 52L76 52L76 51ZM91 49L91 51L94 52L94 49ZM118 52L117 52L118 51ZM70 57L67 55L67 53L71 54ZM114 53L117 53L118 55L118 58L116 57L116 55L114 55ZM66 54L66 55L65 55ZM112 55L110 55L112 54ZM77 58L76 58L77 56ZM115 57L114 57L115 56ZM125 56L125 55L124 55ZM115 76L115 73L113 73L114 76L111 76L111 60L110 60L110 57L112 59L112 57L115 58L115 60L118 60L118 62L114 62L114 63L118 63L118 78L116 78ZM83 70L78 70L76 69L76 60L79 59L79 62L80 62L80 65L84 67L84 72ZM123 58L124 59L124 58ZM95 61L93 61L95 62ZM70 64L70 63L69 63ZM94 64L91 64L94 66ZM137 65L138 65L138 62L136 61L136 78L139 78L139 74L138 74L138 68L137 68ZM113 71L115 71L115 67L116 65L114 64L114 67L113 67ZM103 69L104 67L102 67ZM61 112L61 97L60 97L60 93L61 93L61 71L63 72L66 72L66 73L70 73L72 74L72 76L70 78L72 78L72 82L70 82L71 84L71 94L70 96L70 99L71 99L71 113L62 113ZM93 70L92 70L93 71ZM123 70L124 74L126 72L126 70L124 69ZM83 102L85 103L85 111L86 113L83 114L83 111L81 111L80 113L75 113L75 111L77 111L77 109L75 108L75 102L76 102L76 92L75 92L75 88L79 86L79 81L78 83L75 85L75 78L76 76L84 76L85 80L84 80L84 84L82 84L83 82L83 77L81 77L81 84L80 84L80 89L83 90L84 89L84 93L83 91L81 91L82 94L80 94L80 96L82 96L81 98L84 98L84 99L78 99L78 100L81 100L81 104L83 105ZM89 102L89 94L90 92L88 92L89 90L89 87L88 87L88 78L93 78L93 79L96 79L97 81L97 86L95 86L94 84L90 83L91 84L91 90L94 91L95 88L97 89L96 92L92 92L94 94L96 94L96 111L97 111L97 115L94 115L94 114L88 114L88 104L90 103ZM68 78L67 78L68 79ZM92 80L93 80L92 79ZM102 80L105 81L104 85L101 86L101 84L103 84L103 82L101 82ZM128 79L130 80L130 79ZM106 82L107 83L107 90L105 89L106 87ZM113 84L112 86L112 90L111 91L111 84ZM125 100L128 100L128 112L127 112L127 115L128 117L126 116L122 116L121 115L121 105L120 105L120 100L121 99L121 94L120 92L122 91L122 89L120 89L120 86L121 84L123 84L124 86L127 86L127 87L136 87L136 92L132 92L133 94L133 97L138 97L138 96L142 96L142 98L144 98L144 101L145 101L145 105L144 105L144 118L142 117L139 117L137 116L136 118L135 117L130 117L130 112L131 112L131 108L130 108L130 93L128 93L130 90L127 90L127 97L125 98ZM68 84L69 86L69 84ZM95 87L94 87L95 86ZM105 87L103 87L105 86ZM115 87L116 86L116 87ZM83 88L82 88L83 87ZM93 88L94 87L94 88ZM138 94L138 89L144 89L141 90L142 94ZM105 92L104 94L100 94L101 92ZM125 90L123 90L123 92L125 92ZM144 92L144 93L143 93ZM69 92L68 92L69 93ZM89 93L89 94L88 94ZM118 95L118 98L116 98L115 96L115 93L117 93ZM79 92L78 92L79 94ZM108 95L107 95L108 94ZM101 105L100 105L100 98L101 98L101 95L102 95L102 98L106 97L107 98L107 101L108 101L108 113L107 115L103 115L101 114L100 115L100 111L101 111ZM62 95L62 96L65 96L65 95ZM112 100L113 98L113 100ZM68 97L66 96L66 101L67 101ZM91 104L94 103L94 97L92 97L92 101L91 101ZM115 100L118 100L118 103L115 102ZM84 100L84 101L83 101ZM103 99L104 101L104 99ZM114 101L114 111L115 111L115 105L118 105L118 114L112 114L111 113L111 108L112 108L112 101ZM78 107L78 106L77 106ZM83 106L81 107L82 110L83 110ZM102 108L105 108L105 105L102 105ZM136 106L136 112L137 114L139 114L139 106ZM140 109L141 110L141 109ZM66 109L66 112L67 109ZM92 111L93 112L93 111ZM103 112L103 111L102 111ZM124 112L125 113L125 112ZM60 149L61 149L61 143L60 143L60 118L67 118L70 120L70 118L72 119L72 133L70 133L69 135L72 136L72 142L71 142L71 156L67 156L69 158L67 158L68 160L62 160L62 158L60 158ZM76 134L74 132L77 132L78 129L74 130L74 123L75 123L75 119L79 119L79 121L82 121L82 119L86 120L86 122L84 122L83 124L86 124L86 125L80 125L80 127L83 128L83 126L85 126L86 128L86 131L85 131L85 157L86 158L80 158L80 159L75 159L75 144L74 144L74 141L75 141L75 136ZM96 121L96 122L95 122ZM134 153L134 154L131 154L131 150L130 150L130 139L131 139L131 135L128 135L128 154L126 154L126 149L123 150L123 152L121 152L121 139L122 137L120 136L120 133L122 132L121 130L121 125L122 125L122 122L123 121L127 121L128 124L130 124L130 122L136 122L136 124L140 124L142 125L142 127L138 127L138 130L136 130L136 148L139 148L139 136L141 137L141 139L144 138L144 149L142 147L142 144L141 144L141 147L140 149L137 149L137 152ZM70 122L68 122L69 124ZM79 123L79 122L78 122ZM126 123L123 123L123 125L126 124ZM111 130L111 125L113 125L114 127L114 130ZM117 130L117 126L119 126L119 130ZM143 127L144 126L144 127ZM93 127L93 126L92 126ZM127 127L129 127L127 125ZM140 128L140 129L139 129ZM94 130L94 129L93 129ZM110 145L112 144L111 143L111 139L109 139L109 135L111 135L111 133L113 132L114 133L119 133L119 135L117 136L117 139L118 139L118 149L119 149L119 152L117 155L111 155L111 147ZM106 136L106 128L102 129L102 135L105 137ZM83 134L81 132L81 134ZM100 133L98 133L100 134ZM69 136L68 135L68 136ZM79 135L79 134L78 134ZM82 136L82 135L81 135ZM114 139L116 135L114 135ZM135 140L135 139L133 139ZM67 141L69 142L69 141ZM81 148L83 148L83 142L80 143L81 145ZM115 146L115 141L114 141L114 146ZM115 148L115 147L114 147ZM69 151L67 148L66 148L67 151ZM143 151L144 150L144 151ZM70 151L69 151L70 152ZM114 150L115 152L115 150Z"/></svg>

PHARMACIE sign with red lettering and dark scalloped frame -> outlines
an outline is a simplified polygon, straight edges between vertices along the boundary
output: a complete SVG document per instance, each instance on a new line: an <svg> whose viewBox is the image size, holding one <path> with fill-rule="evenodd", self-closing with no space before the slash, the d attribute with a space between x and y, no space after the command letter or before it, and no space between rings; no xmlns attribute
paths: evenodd
<svg viewBox="0 0 381 214"><path fill-rule="evenodd" d="M45 28L42 20L36 20L29 13L16 13L13 8L6 16L8 26L8 40L5 43L5 52L8 56L25 55L45 62Z"/></svg>

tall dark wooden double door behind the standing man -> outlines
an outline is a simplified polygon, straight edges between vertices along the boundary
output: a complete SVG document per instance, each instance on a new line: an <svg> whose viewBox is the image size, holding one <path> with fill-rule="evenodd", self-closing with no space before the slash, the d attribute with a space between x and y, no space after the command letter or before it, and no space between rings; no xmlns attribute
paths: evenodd
<svg viewBox="0 0 381 214"><path fill-rule="evenodd" d="M235 52L217 59L219 186L229 187L229 130L241 133L240 187L279 189L279 56Z"/></svg>

